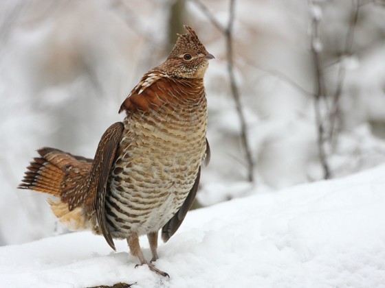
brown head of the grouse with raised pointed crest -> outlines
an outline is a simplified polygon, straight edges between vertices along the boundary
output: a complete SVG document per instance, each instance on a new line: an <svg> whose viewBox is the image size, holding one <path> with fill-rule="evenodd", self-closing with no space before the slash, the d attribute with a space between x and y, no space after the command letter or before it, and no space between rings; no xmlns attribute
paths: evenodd
<svg viewBox="0 0 385 288"><path fill-rule="evenodd" d="M184 25L184 28L188 34L179 34L177 43L161 66L173 77L201 79L208 67L208 60L214 56L208 53L191 27Z"/></svg>

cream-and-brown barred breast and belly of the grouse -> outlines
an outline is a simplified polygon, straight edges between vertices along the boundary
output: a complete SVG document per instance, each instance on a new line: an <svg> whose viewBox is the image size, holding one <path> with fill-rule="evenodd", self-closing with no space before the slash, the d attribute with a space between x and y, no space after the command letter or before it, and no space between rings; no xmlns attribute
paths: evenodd
<svg viewBox="0 0 385 288"><path fill-rule="evenodd" d="M186 199L206 152L206 98L129 115L109 179L113 237L162 228Z"/></svg>

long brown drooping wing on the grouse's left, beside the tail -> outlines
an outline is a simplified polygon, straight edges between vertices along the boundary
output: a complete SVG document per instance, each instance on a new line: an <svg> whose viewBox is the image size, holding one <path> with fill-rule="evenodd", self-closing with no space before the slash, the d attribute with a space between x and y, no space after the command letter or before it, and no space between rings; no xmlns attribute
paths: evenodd
<svg viewBox="0 0 385 288"><path fill-rule="evenodd" d="M120 139L122 139L122 132L123 123L117 122L111 125L100 139L89 173L86 200L87 212L94 213L96 211L100 230L102 230L104 239L106 239L113 250L115 250L115 245L107 228L104 200L106 199L107 182L111 166L115 159L115 152L118 149Z"/></svg>

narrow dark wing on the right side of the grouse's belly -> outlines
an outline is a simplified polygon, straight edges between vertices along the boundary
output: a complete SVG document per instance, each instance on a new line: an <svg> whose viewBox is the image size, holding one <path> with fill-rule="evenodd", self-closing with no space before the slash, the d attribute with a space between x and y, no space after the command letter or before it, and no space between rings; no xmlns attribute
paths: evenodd
<svg viewBox="0 0 385 288"><path fill-rule="evenodd" d="M197 195L200 176L201 167L199 167L194 185L192 185L192 188L188 193L186 200L184 200L184 203L181 205L181 208L179 208L179 211L175 213L173 218L171 218L162 228L162 240L164 242L167 242L168 239L170 239L170 237L173 236L175 232L177 232L179 226L181 226L181 222L183 222L184 217L186 217L186 214L190 209L192 202L194 202L195 200L195 195Z"/></svg>

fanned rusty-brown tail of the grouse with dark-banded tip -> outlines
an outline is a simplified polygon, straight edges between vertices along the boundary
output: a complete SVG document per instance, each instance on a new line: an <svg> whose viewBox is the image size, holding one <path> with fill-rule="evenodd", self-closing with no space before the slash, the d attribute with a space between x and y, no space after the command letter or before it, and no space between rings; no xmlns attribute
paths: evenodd
<svg viewBox="0 0 385 288"><path fill-rule="evenodd" d="M52 212L69 230L81 230L94 226L85 213L87 178L92 159L74 156L59 149L44 147L37 151L27 167L20 189L30 189L58 197L47 199Z"/></svg>

